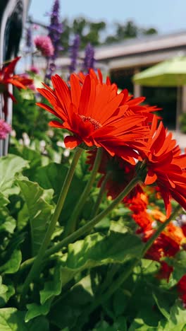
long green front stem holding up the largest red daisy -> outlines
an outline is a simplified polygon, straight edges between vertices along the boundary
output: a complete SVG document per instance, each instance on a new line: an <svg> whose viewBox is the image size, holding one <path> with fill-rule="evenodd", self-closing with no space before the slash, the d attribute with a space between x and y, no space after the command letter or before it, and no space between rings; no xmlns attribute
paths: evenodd
<svg viewBox="0 0 186 331"><path fill-rule="evenodd" d="M51 222L49 223L49 227L47 228L46 235L44 237L41 247L39 248L39 252L38 252L37 256L35 257L32 268L30 269L30 272L27 274L27 278L25 279L25 282L23 285L23 291L22 291L22 294L20 297L20 306L24 306L25 296L27 294L27 290L29 288L29 285L30 285L32 279L36 275L39 275L39 269L41 267L44 254L46 252L46 248L48 247L50 240L51 240L51 236L54 233L54 230L56 227L56 222L58 221L58 217L61 214L61 209L63 208L63 204L65 202L66 195L67 195L68 189L70 187L70 182L71 182L71 180L73 178L73 174L75 172L75 166L77 164L78 159L80 158L81 153L82 153L82 149L77 148L75 150L75 154L73 156L73 161L72 161L70 168L68 170L68 173L66 175L66 180L63 183L61 194L58 197L58 202L56 205L56 209L54 211L54 215L51 218Z"/></svg>

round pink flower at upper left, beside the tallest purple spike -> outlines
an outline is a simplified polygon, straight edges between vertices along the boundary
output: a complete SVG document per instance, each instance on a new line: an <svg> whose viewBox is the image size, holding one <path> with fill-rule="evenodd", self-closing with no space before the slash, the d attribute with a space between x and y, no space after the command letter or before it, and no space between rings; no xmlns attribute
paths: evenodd
<svg viewBox="0 0 186 331"><path fill-rule="evenodd" d="M42 52L44 57L51 57L54 55L54 46L52 45L51 38L47 35L37 35L34 42L35 47Z"/></svg>

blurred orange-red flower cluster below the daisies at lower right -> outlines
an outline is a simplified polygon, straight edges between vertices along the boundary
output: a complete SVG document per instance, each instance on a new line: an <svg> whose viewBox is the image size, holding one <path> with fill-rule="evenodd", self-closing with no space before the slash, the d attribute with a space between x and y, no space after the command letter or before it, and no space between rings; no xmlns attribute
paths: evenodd
<svg viewBox="0 0 186 331"><path fill-rule="evenodd" d="M144 193L137 193L132 199L128 200L128 204L132 211L132 218L139 226L137 233L142 236L144 242L147 242L154 231L156 231L156 222L163 223L166 221L166 216L156 207L154 209L148 209L148 197ZM185 240L185 225L176 226L171 222L159 237L156 238L153 245L151 245L145 257L161 263L161 269L157 275L159 279L166 279L168 281L171 272L173 272L173 267L161 259L163 257L175 256L181 248L185 248ZM182 298L186 306L186 275L178 282L178 291L180 298Z"/></svg>

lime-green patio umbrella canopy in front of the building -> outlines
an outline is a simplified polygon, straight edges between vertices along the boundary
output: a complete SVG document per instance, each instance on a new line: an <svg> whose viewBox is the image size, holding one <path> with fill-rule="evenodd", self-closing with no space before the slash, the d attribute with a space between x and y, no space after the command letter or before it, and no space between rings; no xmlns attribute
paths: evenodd
<svg viewBox="0 0 186 331"><path fill-rule="evenodd" d="M135 74L133 81L143 86L186 85L186 57L174 57Z"/></svg>

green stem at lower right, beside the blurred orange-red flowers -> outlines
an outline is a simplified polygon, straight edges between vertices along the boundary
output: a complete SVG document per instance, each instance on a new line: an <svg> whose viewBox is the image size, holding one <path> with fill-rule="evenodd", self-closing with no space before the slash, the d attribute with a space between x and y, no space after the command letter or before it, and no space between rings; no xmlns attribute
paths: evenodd
<svg viewBox="0 0 186 331"><path fill-rule="evenodd" d="M175 217L179 214L181 209L182 209L182 207L180 206L180 204L178 204L178 206L175 207L175 210L173 211L173 214L171 214L169 219L167 219L165 222L161 223L161 225L157 228L156 232L154 232L154 234L151 236L151 238L149 238L146 245L144 246L142 256L144 256L146 254L147 250L149 250L149 248L151 248L151 245L154 243L154 240L156 240L156 238L159 237L159 235L166 228L166 226L168 226L168 224L171 221L173 221L173 219L175 219Z"/></svg>

